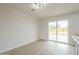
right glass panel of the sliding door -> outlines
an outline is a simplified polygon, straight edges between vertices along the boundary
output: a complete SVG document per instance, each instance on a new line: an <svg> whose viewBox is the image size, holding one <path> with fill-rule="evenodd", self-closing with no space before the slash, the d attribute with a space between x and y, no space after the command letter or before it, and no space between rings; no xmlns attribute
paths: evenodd
<svg viewBox="0 0 79 59"><path fill-rule="evenodd" d="M57 41L68 43L68 20L57 21Z"/></svg>

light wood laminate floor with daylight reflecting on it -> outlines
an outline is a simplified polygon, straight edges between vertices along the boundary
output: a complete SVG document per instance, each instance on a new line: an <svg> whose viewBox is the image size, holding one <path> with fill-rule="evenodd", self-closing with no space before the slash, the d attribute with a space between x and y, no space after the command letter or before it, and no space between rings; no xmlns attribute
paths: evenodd
<svg viewBox="0 0 79 59"><path fill-rule="evenodd" d="M63 43L38 40L7 53L10 55L75 55L74 48L74 46Z"/></svg>

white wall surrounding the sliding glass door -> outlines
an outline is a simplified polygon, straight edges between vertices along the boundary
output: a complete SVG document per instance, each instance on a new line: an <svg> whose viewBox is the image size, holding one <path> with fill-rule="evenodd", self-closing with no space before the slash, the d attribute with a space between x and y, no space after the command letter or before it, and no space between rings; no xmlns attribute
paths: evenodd
<svg viewBox="0 0 79 59"><path fill-rule="evenodd" d="M69 43L73 44L72 34L79 33L79 12L41 19L40 39L48 40L48 22L56 20L69 20Z"/></svg>

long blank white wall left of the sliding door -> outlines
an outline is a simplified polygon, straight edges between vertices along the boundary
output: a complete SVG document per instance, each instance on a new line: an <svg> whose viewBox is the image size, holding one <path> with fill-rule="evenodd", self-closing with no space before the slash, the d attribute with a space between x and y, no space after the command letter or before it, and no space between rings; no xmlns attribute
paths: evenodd
<svg viewBox="0 0 79 59"><path fill-rule="evenodd" d="M37 18L27 13L0 6L0 52L38 40L38 22Z"/></svg>

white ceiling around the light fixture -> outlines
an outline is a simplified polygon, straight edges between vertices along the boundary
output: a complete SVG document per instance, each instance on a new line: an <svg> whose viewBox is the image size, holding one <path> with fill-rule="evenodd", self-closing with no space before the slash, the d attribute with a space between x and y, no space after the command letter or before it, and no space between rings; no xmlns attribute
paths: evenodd
<svg viewBox="0 0 79 59"><path fill-rule="evenodd" d="M31 9L33 8L32 3L7 4L7 5L16 7L20 11L24 11L25 13L28 12L29 14L39 18L62 15L79 11L78 3L48 3L46 8L38 9L35 11L31 11Z"/></svg>

